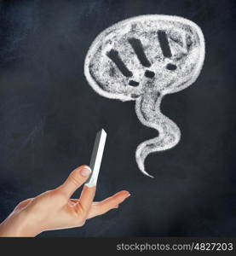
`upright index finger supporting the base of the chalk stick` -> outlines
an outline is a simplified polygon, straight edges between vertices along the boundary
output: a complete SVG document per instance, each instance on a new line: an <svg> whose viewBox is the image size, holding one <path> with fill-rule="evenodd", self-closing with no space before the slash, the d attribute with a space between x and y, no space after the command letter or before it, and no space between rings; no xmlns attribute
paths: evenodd
<svg viewBox="0 0 236 256"><path fill-rule="evenodd" d="M92 202L94 201L95 191L96 191L95 186L88 187L85 185L83 187L82 193L79 198L79 205L82 207L83 213L85 214L85 216L87 216L89 212L89 208L91 207Z"/></svg>

